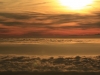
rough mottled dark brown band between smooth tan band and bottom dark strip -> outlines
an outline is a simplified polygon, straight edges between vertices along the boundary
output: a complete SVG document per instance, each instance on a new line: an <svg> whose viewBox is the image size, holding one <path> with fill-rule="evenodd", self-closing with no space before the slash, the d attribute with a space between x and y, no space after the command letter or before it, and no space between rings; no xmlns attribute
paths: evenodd
<svg viewBox="0 0 100 75"><path fill-rule="evenodd" d="M0 72L100 72L100 56L0 55Z"/></svg>

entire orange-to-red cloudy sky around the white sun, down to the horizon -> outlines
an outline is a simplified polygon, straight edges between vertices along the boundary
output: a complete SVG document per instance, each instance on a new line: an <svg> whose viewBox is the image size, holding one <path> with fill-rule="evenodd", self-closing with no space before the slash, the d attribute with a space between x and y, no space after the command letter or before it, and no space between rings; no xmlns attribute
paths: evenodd
<svg viewBox="0 0 100 75"><path fill-rule="evenodd" d="M0 0L0 37L100 34L100 1L72 10L59 0Z"/></svg>

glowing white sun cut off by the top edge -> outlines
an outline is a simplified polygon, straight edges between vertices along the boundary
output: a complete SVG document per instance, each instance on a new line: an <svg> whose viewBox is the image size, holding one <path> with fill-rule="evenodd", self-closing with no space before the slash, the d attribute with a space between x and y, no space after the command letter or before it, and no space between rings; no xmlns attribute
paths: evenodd
<svg viewBox="0 0 100 75"><path fill-rule="evenodd" d="M93 0L59 0L62 6L72 10L80 10L91 5Z"/></svg>

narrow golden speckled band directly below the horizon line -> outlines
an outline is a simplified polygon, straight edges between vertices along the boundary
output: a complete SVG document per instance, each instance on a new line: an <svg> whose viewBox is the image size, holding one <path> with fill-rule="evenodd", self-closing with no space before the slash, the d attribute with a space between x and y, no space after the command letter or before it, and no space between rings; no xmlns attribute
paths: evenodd
<svg viewBox="0 0 100 75"><path fill-rule="evenodd" d="M0 44L100 44L100 39L79 38L0 38Z"/></svg>

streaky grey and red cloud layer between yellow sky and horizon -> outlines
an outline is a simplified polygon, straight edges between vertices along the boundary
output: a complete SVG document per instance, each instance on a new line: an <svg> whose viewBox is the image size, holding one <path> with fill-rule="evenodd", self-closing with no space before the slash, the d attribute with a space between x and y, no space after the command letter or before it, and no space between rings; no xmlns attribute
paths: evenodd
<svg viewBox="0 0 100 75"><path fill-rule="evenodd" d="M68 36L100 34L100 13L0 13L0 36Z"/></svg>

